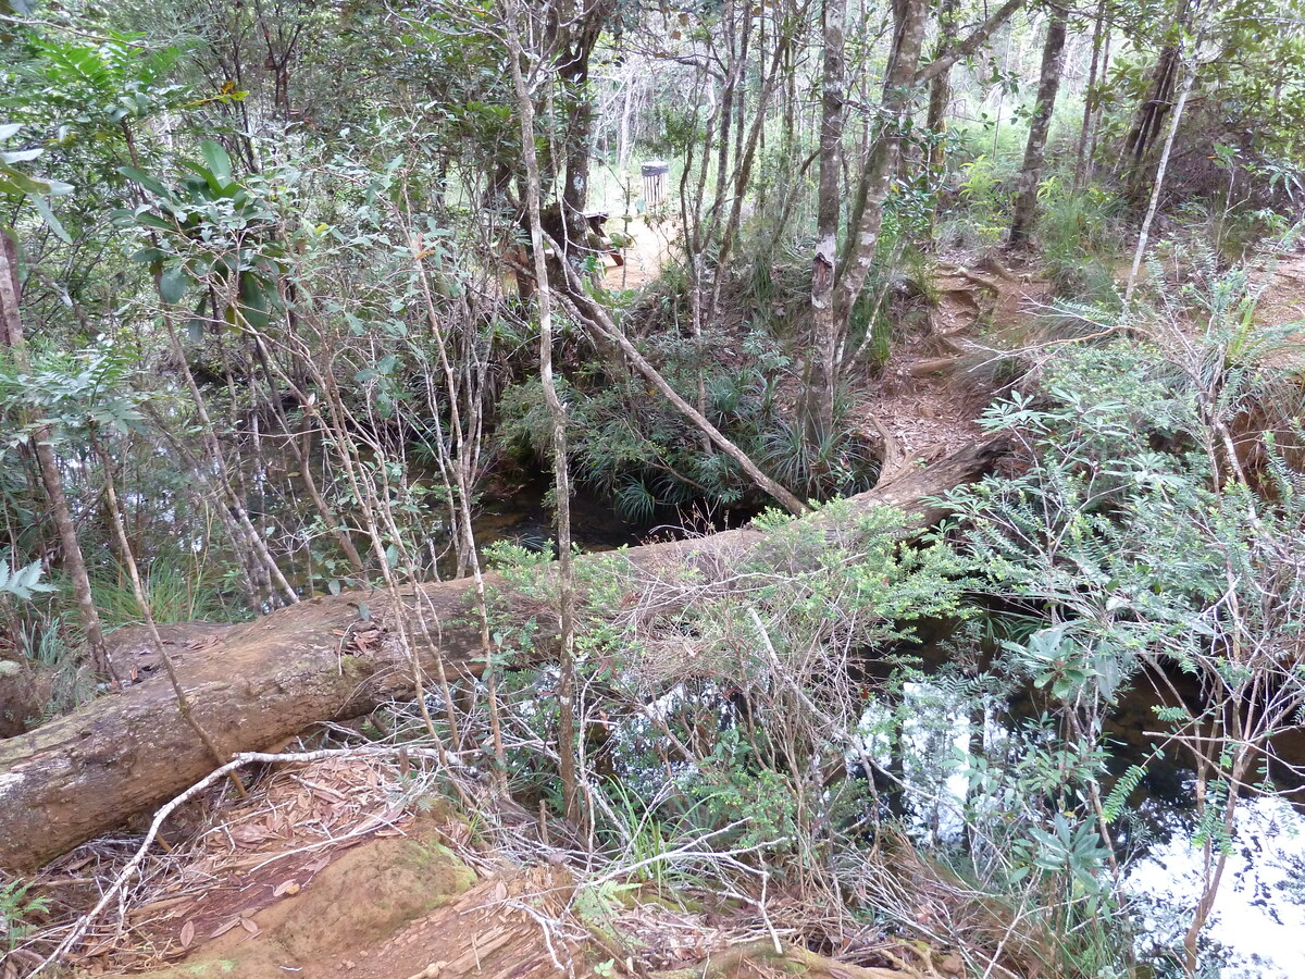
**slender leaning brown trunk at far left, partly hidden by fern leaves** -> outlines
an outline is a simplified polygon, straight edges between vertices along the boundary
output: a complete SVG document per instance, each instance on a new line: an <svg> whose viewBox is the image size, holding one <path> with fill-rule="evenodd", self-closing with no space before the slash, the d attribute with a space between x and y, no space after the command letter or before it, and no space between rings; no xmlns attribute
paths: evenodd
<svg viewBox="0 0 1305 979"><path fill-rule="evenodd" d="M22 316L18 307L18 247L7 228L0 228L0 339L9 347L20 371L27 371L27 345L22 335ZM95 672L100 677L117 680L108 651L104 647L104 630L99 623L99 611L90 590L90 576L86 573L86 559L77 540L77 526L64 493L64 478L59 459L51 445L52 432L48 426L38 428L31 437L40 469L40 483L50 503L50 516L59 533L63 567L73 583L73 598L81 617L82 632L86 633L86 646L90 650Z"/></svg>

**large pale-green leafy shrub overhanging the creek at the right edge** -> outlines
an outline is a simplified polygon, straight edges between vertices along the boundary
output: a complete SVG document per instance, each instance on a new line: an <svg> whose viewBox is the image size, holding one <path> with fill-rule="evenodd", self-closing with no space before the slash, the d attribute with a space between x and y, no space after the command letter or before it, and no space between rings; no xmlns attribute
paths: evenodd
<svg viewBox="0 0 1305 979"><path fill-rule="evenodd" d="M1154 343L1060 350L1036 396L1014 394L984 419L1017 440L1023 471L951 495L984 590L1047 620L1004 644L1002 667L1049 694L1061 728L1060 748L1014 769L1057 807L1049 825L1027 828L1023 875L1058 875L1069 901L1090 907L1107 895L1096 838L1146 771L1128 768L1099 801L1104 722L1137 671L1160 676L1177 666L1199 684L1199 717L1158 711L1176 738L1215 718L1197 756L1195 799L1197 841L1211 859L1232 845L1233 786L1254 778L1251 745L1295 730L1305 704L1305 577L1288 557L1305 546L1302 476L1276 449L1298 426L1263 415L1254 471L1224 454L1232 426L1271 403L1266 364L1280 356L1282 338L1254 325L1255 292L1242 272L1207 282L1182 298L1203 309L1197 335L1155 316ZM1266 581L1275 582L1271 598ZM1275 691L1272 706L1253 692L1263 689ZM1103 826L1091 825L1092 813Z"/></svg>

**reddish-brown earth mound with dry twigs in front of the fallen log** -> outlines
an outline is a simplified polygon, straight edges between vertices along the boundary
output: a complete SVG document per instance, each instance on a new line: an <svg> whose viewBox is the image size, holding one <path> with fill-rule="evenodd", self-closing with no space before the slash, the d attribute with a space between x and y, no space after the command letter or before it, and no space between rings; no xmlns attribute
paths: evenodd
<svg viewBox="0 0 1305 979"><path fill-rule="evenodd" d="M73 975L543 979L574 971L778 979L795 967L817 979L959 974L957 957L934 965L894 942L861 952L894 967L838 963L800 948L776 956L779 933L791 933L782 924L771 932L739 909L688 910L654 892L598 890L586 899L560 851L523 868L438 807L414 815L398 801L403 790L398 762L375 757L277 771L243 803L207 813L202 831L151 856L142 882L69 959ZM538 850L534 826L522 822L519 831L535 833ZM78 852L47 868L42 882L85 882L87 847Z"/></svg>

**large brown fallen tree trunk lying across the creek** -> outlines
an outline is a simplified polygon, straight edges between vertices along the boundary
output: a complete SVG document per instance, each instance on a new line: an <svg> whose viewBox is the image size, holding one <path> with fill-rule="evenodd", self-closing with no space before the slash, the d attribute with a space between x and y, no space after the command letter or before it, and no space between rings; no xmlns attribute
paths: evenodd
<svg viewBox="0 0 1305 979"><path fill-rule="evenodd" d="M992 443L963 449L853 497L853 512L889 505L932 520L937 513L929 497L976 479L1000 454ZM634 547L619 560L643 578L673 576L741 560L763 542L761 531L731 530ZM487 585L495 583L489 576ZM408 589L401 603L385 593L317 598L213 632L172 655L194 719L218 747L264 751L315 723L411 697L414 671L401 632L420 636L412 645L427 676L440 667L461 676L478 672L483 651L474 595L471 580L459 578ZM539 611L522 608L522 620ZM3 741L0 868L37 867L175 796L214 768L162 676Z"/></svg>

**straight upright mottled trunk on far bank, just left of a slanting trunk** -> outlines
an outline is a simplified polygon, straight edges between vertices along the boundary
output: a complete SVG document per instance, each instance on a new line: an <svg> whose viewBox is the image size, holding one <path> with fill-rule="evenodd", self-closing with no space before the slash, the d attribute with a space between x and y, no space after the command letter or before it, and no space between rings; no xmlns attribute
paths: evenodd
<svg viewBox="0 0 1305 979"><path fill-rule="evenodd" d="M804 398L806 437L813 445L834 431L838 322L834 315L834 272L843 159L843 111L847 64L844 23L847 0L825 0L825 70L821 86L820 184L816 194L816 256L812 262L812 356Z"/></svg>

